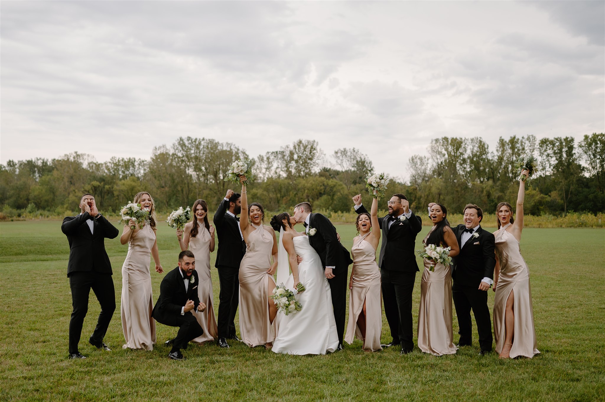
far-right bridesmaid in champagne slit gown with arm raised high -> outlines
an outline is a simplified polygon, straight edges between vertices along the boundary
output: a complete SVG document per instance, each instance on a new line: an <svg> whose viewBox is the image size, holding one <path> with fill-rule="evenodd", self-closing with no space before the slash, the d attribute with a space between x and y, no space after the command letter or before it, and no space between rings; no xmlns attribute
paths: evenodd
<svg viewBox="0 0 605 402"><path fill-rule="evenodd" d="M527 175L529 172L521 172ZM512 217L512 206L501 202L496 208L498 230L495 236L494 273L494 339L495 351L500 357L534 357L536 348L534 307L529 285L529 270L521 255L523 231L523 200L525 180L519 180L517 214Z"/></svg>

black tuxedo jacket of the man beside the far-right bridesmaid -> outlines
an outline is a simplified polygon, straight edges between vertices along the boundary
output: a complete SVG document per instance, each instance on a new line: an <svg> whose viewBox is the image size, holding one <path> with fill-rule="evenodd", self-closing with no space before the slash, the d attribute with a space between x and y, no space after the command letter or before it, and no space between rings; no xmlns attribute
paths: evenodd
<svg viewBox="0 0 605 402"><path fill-rule="evenodd" d="M466 243L460 244L465 228L464 225L453 228L460 246L460 254L453 258L452 278L462 286L479 287L481 279L494 279L495 238L493 234L479 226L475 232L479 237L471 236Z"/></svg>

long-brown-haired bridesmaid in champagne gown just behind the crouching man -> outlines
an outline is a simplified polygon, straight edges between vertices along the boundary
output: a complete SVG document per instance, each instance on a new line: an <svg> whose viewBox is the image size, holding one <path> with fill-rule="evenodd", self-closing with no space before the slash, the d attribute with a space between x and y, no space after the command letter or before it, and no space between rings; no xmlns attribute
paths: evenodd
<svg viewBox="0 0 605 402"><path fill-rule="evenodd" d="M214 251L214 226L208 222L208 204L196 200L193 204L194 220L186 223L184 231L177 229L181 251L189 249L195 255L195 270L199 278L197 295L206 304L206 310L194 313L204 333L191 342L204 343L218 337L217 319L214 315L210 253Z"/></svg>

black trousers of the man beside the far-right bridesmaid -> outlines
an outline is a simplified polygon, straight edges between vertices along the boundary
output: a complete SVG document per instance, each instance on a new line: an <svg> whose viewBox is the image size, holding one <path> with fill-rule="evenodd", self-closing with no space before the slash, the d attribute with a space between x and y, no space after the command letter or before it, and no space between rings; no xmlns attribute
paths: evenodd
<svg viewBox="0 0 605 402"><path fill-rule="evenodd" d="M473 343L473 327L471 324L471 308L477 323L479 333L479 347L482 350L492 349L492 326L488 307L488 292L479 290L477 286L465 286L456 283L452 286L452 299L458 316L460 346L469 346Z"/></svg>

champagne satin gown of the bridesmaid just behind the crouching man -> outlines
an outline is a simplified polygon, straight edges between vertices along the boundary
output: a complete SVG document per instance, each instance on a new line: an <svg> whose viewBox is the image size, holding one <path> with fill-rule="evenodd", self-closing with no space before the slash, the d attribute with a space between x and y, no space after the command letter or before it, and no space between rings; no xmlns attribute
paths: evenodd
<svg viewBox="0 0 605 402"><path fill-rule="evenodd" d="M201 226L198 228L197 235L189 240L189 250L195 255L195 270L199 278L197 285L197 295L200 302L206 304L206 310L201 313L195 313L195 319L204 333L191 342L203 343L214 340L218 337L217 319L214 315L214 305L212 300L212 279L210 276L210 233L208 229Z"/></svg>

